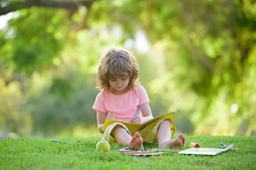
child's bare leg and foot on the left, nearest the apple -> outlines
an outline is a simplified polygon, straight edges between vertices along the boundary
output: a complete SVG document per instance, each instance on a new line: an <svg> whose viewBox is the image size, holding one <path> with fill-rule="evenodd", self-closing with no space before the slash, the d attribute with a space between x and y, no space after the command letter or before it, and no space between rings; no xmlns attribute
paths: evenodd
<svg viewBox="0 0 256 170"><path fill-rule="evenodd" d="M111 131L111 135L115 137L117 143L119 144L130 146L132 149L144 149L143 139L138 132L136 132L135 135L131 137L123 126L117 125Z"/></svg>

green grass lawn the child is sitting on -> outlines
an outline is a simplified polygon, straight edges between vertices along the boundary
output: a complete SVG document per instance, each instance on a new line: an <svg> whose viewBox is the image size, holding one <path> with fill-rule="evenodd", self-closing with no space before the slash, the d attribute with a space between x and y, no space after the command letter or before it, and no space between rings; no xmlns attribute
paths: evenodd
<svg viewBox="0 0 256 170"><path fill-rule="evenodd" d="M239 150L229 150L216 156L182 155L168 151L157 156L131 156L118 153L117 149L123 148L118 144L110 145L110 153L97 152L95 146L101 137L56 138L73 144L50 142L49 138L18 137L0 139L0 169L256 169L256 137L185 137L186 144L180 150L188 148L190 142L199 143L204 148L218 148L222 142L234 144ZM86 143L76 142L78 139ZM144 146L145 149L156 147ZM72 166L68 167L70 164Z"/></svg>

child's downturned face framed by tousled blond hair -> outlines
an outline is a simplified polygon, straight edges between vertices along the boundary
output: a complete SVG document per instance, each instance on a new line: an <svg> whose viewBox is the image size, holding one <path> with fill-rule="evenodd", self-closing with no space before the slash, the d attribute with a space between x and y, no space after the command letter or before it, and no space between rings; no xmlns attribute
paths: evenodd
<svg viewBox="0 0 256 170"><path fill-rule="evenodd" d="M113 94L124 94L129 90L129 78L127 76L111 78L108 80L108 83L110 84L110 91Z"/></svg>

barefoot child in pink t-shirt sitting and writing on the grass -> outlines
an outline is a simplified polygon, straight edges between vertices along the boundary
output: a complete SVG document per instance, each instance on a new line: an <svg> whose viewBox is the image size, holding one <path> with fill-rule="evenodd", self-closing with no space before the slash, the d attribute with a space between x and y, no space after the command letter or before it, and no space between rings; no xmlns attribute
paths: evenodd
<svg viewBox="0 0 256 170"><path fill-rule="evenodd" d="M184 146L182 133L171 139L173 121L167 118L160 118L140 131L128 129L120 122L112 123L102 131L106 119L143 124L153 118L150 100L138 76L137 61L128 50L111 48L101 57L97 74L97 88L101 92L92 108L97 111L98 129L103 134L103 140L140 150L144 149L143 143L157 143L158 148ZM144 107L134 116L142 104Z"/></svg>

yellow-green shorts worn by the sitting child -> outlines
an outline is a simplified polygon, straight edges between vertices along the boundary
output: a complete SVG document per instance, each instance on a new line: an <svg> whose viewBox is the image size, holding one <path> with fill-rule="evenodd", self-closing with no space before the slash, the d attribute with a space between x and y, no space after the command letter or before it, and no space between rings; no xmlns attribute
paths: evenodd
<svg viewBox="0 0 256 170"><path fill-rule="evenodd" d="M113 128L119 124L119 125L123 126L131 136L133 136L135 134L135 132L139 132L139 134L141 135L141 137L143 139L143 143L157 144L158 127L166 119L171 122L171 129L170 129L171 135L174 135L174 133L176 131L176 127L175 127L173 120L168 119L168 118L159 118L156 121L148 124L148 126L144 127L144 129L141 129L141 130L128 129L124 124L119 123L119 122L112 123L106 128L105 132L103 133L102 140L108 141L109 143L116 143L117 140L115 139L115 137L110 135L110 133L113 130Z"/></svg>

